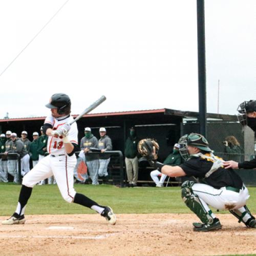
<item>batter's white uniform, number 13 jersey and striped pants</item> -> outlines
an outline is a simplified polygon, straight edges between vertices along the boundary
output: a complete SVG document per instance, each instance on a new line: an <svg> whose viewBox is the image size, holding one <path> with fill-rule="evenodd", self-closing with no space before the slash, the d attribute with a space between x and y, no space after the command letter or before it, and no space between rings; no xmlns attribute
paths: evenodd
<svg viewBox="0 0 256 256"><path fill-rule="evenodd" d="M71 116L63 120L57 120L56 118L49 116L46 118L45 123L51 124L53 130L57 130L61 125L70 123L72 120L74 119ZM71 143L78 144L77 136L77 124L74 122L70 127L68 138ZM49 136L48 138L47 151L49 155L41 159L23 178L22 184L27 187L33 187L39 181L54 175L61 196L67 202L72 203L76 194L73 187L73 171L76 165L76 156L75 154L68 156L62 139L53 136Z"/></svg>

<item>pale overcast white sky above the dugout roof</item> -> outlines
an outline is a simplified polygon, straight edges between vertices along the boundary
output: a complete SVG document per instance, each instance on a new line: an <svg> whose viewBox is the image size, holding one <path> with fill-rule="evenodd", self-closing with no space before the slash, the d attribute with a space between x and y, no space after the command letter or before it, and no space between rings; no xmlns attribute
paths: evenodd
<svg viewBox="0 0 256 256"><path fill-rule="evenodd" d="M0 0L0 73L67 0ZM198 111L196 0L69 0L0 76L0 119L46 116L54 93L72 114ZM205 0L207 112L256 99L256 1Z"/></svg>

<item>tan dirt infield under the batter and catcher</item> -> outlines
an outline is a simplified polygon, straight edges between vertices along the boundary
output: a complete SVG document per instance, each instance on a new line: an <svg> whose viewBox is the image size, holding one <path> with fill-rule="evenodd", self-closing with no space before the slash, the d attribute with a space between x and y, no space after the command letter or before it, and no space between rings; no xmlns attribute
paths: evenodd
<svg viewBox="0 0 256 256"><path fill-rule="evenodd" d="M1 255L220 255L256 253L256 229L219 215L222 230L193 232L190 214L33 215L0 225ZM4 220L4 217L0 218Z"/></svg>

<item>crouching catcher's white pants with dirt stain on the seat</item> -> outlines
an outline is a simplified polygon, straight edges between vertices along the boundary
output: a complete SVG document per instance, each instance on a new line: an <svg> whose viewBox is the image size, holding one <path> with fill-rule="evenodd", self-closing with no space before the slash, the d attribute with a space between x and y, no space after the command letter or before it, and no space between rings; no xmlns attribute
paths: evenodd
<svg viewBox="0 0 256 256"><path fill-rule="evenodd" d="M246 204L248 200L248 189L243 186L239 193L227 190L226 187L216 189L212 186L196 183L192 186L194 194L198 195L205 209L208 211L208 205L219 210L239 209Z"/></svg>

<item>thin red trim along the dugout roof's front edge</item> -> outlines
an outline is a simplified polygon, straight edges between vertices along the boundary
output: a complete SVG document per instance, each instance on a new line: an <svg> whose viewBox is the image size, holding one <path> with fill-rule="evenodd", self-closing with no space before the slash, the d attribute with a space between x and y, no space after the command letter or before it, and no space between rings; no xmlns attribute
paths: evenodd
<svg viewBox="0 0 256 256"><path fill-rule="evenodd" d="M96 113L88 114L83 117L100 117L100 116L121 116L121 115L138 115L138 114L153 114L153 113L164 113L165 109L158 110L135 110L135 111L123 111L123 112L109 112L109 113ZM74 118L78 115L72 115ZM22 118L9 118L0 119L0 122L13 122L13 121L35 121L35 120L45 120L45 116L41 117L22 117Z"/></svg>

